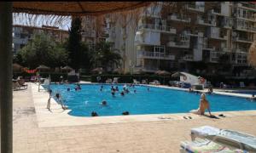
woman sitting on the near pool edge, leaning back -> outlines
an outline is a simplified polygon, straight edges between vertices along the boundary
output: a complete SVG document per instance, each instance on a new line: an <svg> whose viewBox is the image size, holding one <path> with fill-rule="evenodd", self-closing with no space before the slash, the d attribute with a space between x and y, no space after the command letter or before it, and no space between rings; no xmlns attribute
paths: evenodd
<svg viewBox="0 0 256 153"><path fill-rule="evenodd" d="M208 110L210 116L212 116L211 111L210 111L210 104L206 98L206 94L203 93L203 94L201 94L199 108L197 110L191 110L189 112L198 114L198 115L204 115L206 110Z"/></svg>

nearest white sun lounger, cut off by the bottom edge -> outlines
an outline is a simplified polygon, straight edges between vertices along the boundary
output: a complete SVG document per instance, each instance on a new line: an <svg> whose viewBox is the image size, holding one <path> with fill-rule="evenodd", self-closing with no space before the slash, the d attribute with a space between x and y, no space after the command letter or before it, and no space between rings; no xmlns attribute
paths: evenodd
<svg viewBox="0 0 256 153"><path fill-rule="evenodd" d="M230 149L222 144L215 143L208 139L196 139L195 141L182 141L180 144L181 153L246 153L245 150Z"/></svg>

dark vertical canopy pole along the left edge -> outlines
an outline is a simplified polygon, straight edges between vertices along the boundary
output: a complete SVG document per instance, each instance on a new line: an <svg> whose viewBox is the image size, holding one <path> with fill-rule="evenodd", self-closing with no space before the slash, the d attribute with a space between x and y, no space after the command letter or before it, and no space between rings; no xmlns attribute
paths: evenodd
<svg viewBox="0 0 256 153"><path fill-rule="evenodd" d="M12 3L0 2L1 152L13 152Z"/></svg>

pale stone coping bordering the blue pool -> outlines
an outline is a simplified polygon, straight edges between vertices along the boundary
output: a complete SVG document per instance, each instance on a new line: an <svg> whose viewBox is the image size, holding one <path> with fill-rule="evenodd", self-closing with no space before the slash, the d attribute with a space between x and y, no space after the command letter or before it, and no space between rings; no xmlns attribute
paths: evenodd
<svg viewBox="0 0 256 153"><path fill-rule="evenodd" d="M191 120L192 119L212 119L206 116L198 116L192 113L172 113L172 114L149 114L149 115L130 115L130 116L97 116L97 117L86 117L86 116L70 116L67 113L71 110L63 111L61 105L57 104L55 99L51 98L50 111L46 109L47 101L49 99L49 93L45 90L38 92L38 85L34 83L31 84L32 89L32 100L34 102L35 111L38 120L38 127L66 127L66 126L83 126L83 125L93 125L93 124L111 124L120 122L157 122L157 121L172 121L172 120ZM82 83L84 84L84 83ZM88 84L88 83L87 83ZM98 84L98 83L90 83ZM102 84L102 83L99 83ZM123 84L123 83L122 83ZM154 86L154 85L144 85L149 87L158 88L171 88L187 91L184 88L174 88L166 86ZM41 89L44 89L40 86ZM224 94L224 92L214 92L216 94ZM241 97L241 95L231 94L230 96ZM246 97L243 97L246 98ZM218 116L218 114L224 114L226 117L233 116L256 116L256 111L215 111L212 112L213 115ZM187 119L186 119L187 118ZM219 117L222 118L222 117Z"/></svg>

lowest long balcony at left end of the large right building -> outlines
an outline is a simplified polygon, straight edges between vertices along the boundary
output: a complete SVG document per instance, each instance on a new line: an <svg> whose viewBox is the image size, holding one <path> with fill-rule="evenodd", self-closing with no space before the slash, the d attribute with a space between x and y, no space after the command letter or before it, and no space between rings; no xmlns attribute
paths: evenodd
<svg viewBox="0 0 256 153"><path fill-rule="evenodd" d="M148 51L138 51L137 57L143 58L143 59L170 59L170 60L175 59L175 56L172 54L165 54L160 52L148 52Z"/></svg>

